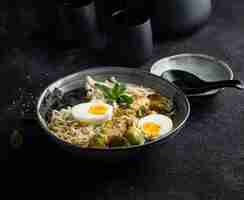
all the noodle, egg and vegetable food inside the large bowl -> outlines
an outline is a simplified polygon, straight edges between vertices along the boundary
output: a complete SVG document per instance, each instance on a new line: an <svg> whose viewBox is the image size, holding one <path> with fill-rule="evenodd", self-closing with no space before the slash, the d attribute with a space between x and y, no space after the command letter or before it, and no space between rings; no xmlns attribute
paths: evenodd
<svg viewBox="0 0 244 200"><path fill-rule="evenodd" d="M143 145L173 129L173 101L151 88L87 76L85 92L75 95L80 98L50 112L48 128L81 148Z"/></svg>

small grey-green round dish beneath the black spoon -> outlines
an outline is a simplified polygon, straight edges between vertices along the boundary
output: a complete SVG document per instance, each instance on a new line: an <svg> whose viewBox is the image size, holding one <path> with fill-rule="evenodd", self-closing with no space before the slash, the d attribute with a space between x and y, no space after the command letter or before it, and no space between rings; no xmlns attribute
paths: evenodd
<svg viewBox="0 0 244 200"><path fill-rule="evenodd" d="M175 69L193 73L202 80L209 82L233 79L233 72L225 62L203 54L179 54L162 58L152 65L151 73L161 76L165 71ZM210 90L188 96L213 95L220 90Z"/></svg>

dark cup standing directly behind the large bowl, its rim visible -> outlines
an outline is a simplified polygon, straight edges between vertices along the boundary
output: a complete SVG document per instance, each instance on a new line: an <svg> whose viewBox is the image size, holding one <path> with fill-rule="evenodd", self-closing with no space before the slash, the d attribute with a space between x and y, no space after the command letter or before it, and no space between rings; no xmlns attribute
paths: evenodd
<svg viewBox="0 0 244 200"><path fill-rule="evenodd" d="M148 15L134 9L115 12L111 17L110 55L118 64L140 65L153 52L151 22Z"/></svg>

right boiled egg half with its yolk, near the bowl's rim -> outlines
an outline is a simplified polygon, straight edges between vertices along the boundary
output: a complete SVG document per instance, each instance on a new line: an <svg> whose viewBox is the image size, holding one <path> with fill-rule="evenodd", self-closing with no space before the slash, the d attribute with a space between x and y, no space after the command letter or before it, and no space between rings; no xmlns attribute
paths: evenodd
<svg viewBox="0 0 244 200"><path fill-rule="evenodd" d="M151 114L139 120L139 128L149 140L166 136L173 129L173 121L166 115Z"/></svg>

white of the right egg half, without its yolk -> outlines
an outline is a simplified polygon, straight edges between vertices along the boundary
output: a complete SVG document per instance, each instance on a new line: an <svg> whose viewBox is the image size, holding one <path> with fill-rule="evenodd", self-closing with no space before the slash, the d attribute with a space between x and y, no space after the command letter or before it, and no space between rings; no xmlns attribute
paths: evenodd
<svg viewBox="0 0 244 200"><path fill-rule="evenodd" d="M139 128L143 130L144 123L152 122L160 126L159 136L167 136L167 134L173 129L173 121L166 115L162 114L151 114L143 117L139 120ZM154 139L154 138L151 138Z"/></svg>

